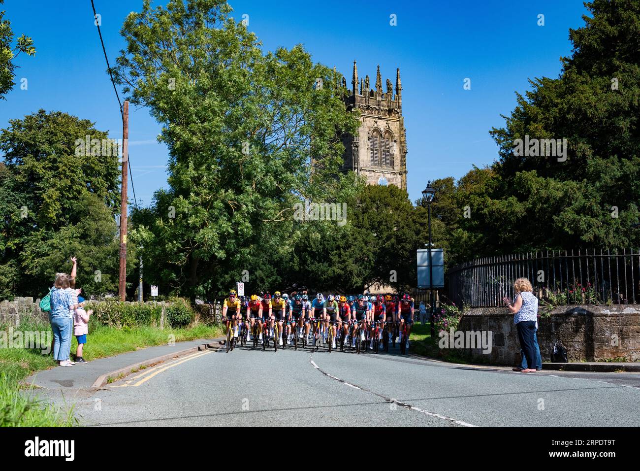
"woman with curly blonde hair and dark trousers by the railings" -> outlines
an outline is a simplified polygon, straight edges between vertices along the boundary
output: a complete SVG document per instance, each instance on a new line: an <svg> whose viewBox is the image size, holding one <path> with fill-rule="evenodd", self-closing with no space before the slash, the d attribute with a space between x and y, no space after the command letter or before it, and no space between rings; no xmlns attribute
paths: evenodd
<svg viewBox="0 0 640 471"><path fill-rule="evenodd" d="M508 297L502 301L513 313L513 323L518 329L520 347L527 359L527 368L520 371L532 373L536 371L536 322L538 321L538 298L533 294L533 287L527 278L518 278L513 284L516 293L513 302Z"/></svg>

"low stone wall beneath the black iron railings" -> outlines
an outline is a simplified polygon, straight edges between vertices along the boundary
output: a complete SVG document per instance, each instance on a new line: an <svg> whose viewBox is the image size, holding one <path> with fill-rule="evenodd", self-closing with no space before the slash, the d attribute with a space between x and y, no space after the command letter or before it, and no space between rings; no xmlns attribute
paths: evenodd
<svg viewBox="0 0 640 471"><path fill-rule="evenodd" d="M473 308L462 316L459 331L491 331L492 350L464 349L477 361L519 365L520 342L507 308ZM559 306L538 319L542 361L551 361L554 344L567 350L568 361L624 358L640 361L640 306Z"/></svg>

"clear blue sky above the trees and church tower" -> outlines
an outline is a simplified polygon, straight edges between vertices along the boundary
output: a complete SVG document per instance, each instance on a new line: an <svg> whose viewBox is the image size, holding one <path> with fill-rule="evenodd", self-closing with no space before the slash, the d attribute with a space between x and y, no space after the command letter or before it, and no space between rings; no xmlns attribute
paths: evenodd
<svg viewBox="0 0 640 471"><path fill-rule="evenodd" d="M122 21L140 11L141 1L94 3L114 63L124 47ZM529 88L527 78L557 77L559 57L571 51L568 29L582 26L586 14L582 0L230 4L237 20L249 15L249 29L264 49L304 44L314 61L337 67L348 83L353 60L372 86L376 65L383 83L386 78L395 83L400 68L412 201L428 179L460 178L472 165L497 158L488 131L502 126L500 114L513 110L515 91ZM0 128L44 108L90 119L121 138L122 120L90 0L6 0L3 8L14 33L33 37L37 54L19 58L18 86L0 101ZM537 25L540 13L545 26ZM390 26L391 14L397 15L397 26ZM20 90L23 77L28 90ZM471 79L471 90L463 90L465 78ZM159 130L148 110L131 108L129 151L138 203L150 204L154 191L167 185L167 151L156 142Z"/></svg>

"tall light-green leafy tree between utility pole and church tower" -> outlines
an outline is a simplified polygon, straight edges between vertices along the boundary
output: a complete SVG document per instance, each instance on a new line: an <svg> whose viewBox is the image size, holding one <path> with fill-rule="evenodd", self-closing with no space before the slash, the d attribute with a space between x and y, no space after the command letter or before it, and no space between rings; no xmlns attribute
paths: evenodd
<svg viewBox="0 0 640 471"><path fill-rule="evenodd" d="M294 205L335 194L340 135L358 124L333 70L300 45L263 53L231 12L220 0L145 1L124 22L115 68L170 151L170 188L134 217L132 240L152 278L192 297L259 275L256 258L291 256Z"/></svg>

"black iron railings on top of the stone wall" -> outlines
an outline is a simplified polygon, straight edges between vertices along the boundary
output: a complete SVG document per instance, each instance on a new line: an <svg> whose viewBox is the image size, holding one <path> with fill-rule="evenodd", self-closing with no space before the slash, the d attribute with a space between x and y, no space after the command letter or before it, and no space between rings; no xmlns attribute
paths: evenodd
<svg viewBox="0 0 640 471"><path fill-rule="evenodd" d="M551 304L638 304L640 250L547 251L479 258L447 272L449 298L470 307L502 306L526 277Z"/></svg>

